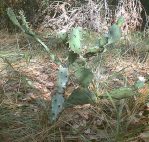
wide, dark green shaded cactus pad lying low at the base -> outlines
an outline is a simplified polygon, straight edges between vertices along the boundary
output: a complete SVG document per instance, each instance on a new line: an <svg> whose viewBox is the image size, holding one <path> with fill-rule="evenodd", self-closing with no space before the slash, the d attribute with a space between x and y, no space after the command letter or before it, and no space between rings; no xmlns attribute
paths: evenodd
<svg viewBox="0 0 149 142"><path fill-rule="evenodd" d="M77 88L73 90L72 94L65 101L64 106L67 108L75 105L94 104L96 101L96 95L91 93L88 89Z"/></svg>

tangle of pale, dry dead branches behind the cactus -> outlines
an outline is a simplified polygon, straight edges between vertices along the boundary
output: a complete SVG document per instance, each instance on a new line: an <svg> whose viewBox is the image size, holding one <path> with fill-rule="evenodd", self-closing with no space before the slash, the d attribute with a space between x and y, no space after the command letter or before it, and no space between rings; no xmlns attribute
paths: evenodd
<svg viewBox="0 0 149 142"><path fill-rule="evenodd" d="M108 2L89 0L83 4L73 2L52 2L42 12L41 29L69 30L71 27L82 26L94 31L105 33L111 23L119 16L125 18L125 33L136 30L142 25L141 12L144 11L140 0L118 1L111 6Z"/></svg>

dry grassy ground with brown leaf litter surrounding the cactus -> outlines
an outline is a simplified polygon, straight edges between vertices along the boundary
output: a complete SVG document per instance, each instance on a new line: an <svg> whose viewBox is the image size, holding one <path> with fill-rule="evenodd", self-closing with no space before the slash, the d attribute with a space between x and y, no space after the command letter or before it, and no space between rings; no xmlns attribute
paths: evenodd
<svg viewBox="0 0 149 142"><path fill-rule="evenodd" d="M61 58L65 50L53 49L53 52ZM138 54L125 50L122 56L119 51L112 49L103 55L102 67L98 70L103 85L98 88L99 94L133 85L138 78L149 76L149 58L140 62ZM120 101L119 107L124 108L120 117L113 102L99 100L95 106L65 110L51 125L49 104L56 86L58 65L36 42L21 34L10 35L2 31L0 57L1 142L149 141L149 106L146 103L149 87L138 90L142 96ZM72 84L69 83L66 96L71 93Z"/></svg>

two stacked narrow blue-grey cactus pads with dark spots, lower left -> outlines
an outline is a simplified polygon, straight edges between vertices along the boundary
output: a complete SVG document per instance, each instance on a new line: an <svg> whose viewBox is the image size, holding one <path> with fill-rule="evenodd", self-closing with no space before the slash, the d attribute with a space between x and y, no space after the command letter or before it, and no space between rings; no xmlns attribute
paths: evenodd
<svg viewBox="0 0 149 142"><path fill-rule="evenodd" d="M51 112L50 112L50 121L51 123L55 122L59 114L63 110L64 104L64 92L68 82L68 68L60 67L57 78L57 86L55 94L52 97L51 101Z"/></svg>

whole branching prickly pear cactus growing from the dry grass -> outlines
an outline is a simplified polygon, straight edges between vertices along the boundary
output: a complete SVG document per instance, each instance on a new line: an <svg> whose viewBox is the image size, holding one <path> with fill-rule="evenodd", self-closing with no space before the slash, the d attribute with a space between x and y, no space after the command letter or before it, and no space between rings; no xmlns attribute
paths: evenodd
<svg viewBox="0 0 149 142"><path fill-rule="evenodd" d="M47 52L50 52L49 48L37 37L37 35L29 27L24 14L20 13L20 19L14 14L11 8L7 9L7 14L14 25L18 26L25 34L33 37L38 41ZM21 23L19 22L21 20ZM103 52L105 46L115 43L121 38L120 27L124 23L124 18L120 17L117 23L113 24L109 28L107 36L100 37L97 33L83 29L82 27L72 28L70 31L60 31L56 34L57 40L69 43L69 57L68 65L62 67L61 64L57 76L57 85L55 88L55 93L52 96L51 107L50 107L50 122L55 122L60 113L68 108L75 105L84 104L95 104L97 102L97 95L95 92L88 89L89 84L94 78L94 74L91 69L87 68L86 60L84 59L88 54L96 54ZM55 56L50 53L51 56ZM65 89L67 88L67 83L69 81L69 67L72 65L76 59L84 62L81 66L76 66L74 77L76 78L77 88L72 90L72 93L68 98L64 97ZM103 98L109 96L114 99L123 99L134 95L131 88L119 88L118 90L113 90L107 93Z"/></svg>

